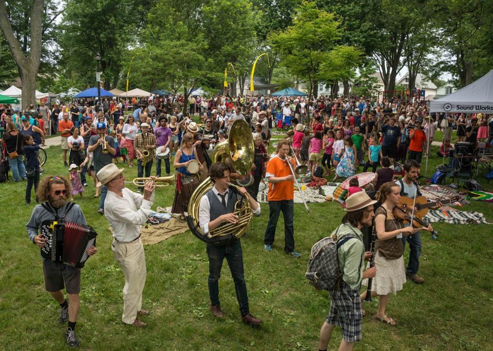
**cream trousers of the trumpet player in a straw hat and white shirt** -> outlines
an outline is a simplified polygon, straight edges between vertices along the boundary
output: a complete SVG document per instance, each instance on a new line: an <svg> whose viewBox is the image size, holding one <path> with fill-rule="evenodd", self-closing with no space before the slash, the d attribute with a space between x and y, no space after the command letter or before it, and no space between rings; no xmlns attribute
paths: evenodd
<svg viewBox="0 0 493 351"><path fill-rule="evenodd" d="M137 318L137 312L142 309L146 277L144 246L140 238L128 243L113 240L111 250L125 276L122 321L132 324Z"/></svg>

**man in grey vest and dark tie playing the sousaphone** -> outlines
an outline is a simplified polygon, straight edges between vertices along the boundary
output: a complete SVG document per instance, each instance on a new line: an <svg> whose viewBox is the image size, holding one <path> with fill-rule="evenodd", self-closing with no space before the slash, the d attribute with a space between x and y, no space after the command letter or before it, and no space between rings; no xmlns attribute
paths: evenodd
<svg viewBox="0 0 493 351"><path fill-rule="evenodd" d="M260 205L245 188L236 190L230 187L231 170L226 164L214 163L209 170L214 186L202 196L199 207L199 224L203 235L218 228L222 223L238 223L235 211L236 201L241 195L248 199L254 215L260 215ZM241 195L239 194L241 193ZM209 277L207 281L211 298L211 312L215 317L222 318L223 314L219 303L219 277L224 258L230 266L231 275L235 283L236 298L240 306L241 319L250 325L258 325L261 321L250 314L247 284L243 272L243 252L240 240L232 237L226 244L214 245L207 243L207 257L209 259Z"/></svg>

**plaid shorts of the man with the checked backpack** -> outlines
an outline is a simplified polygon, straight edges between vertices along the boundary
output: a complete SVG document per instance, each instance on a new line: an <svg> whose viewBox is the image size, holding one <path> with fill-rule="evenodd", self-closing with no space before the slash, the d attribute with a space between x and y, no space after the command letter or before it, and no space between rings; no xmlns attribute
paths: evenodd
<svg viewBox="0 0 493 351"><path fill-rule="evenodd" d="M363 315L361 301L359 301L359 289L352 289L341 280L340 291L331 291L330 299L327 323L340 326L345 341L361 341Z"/></svg>

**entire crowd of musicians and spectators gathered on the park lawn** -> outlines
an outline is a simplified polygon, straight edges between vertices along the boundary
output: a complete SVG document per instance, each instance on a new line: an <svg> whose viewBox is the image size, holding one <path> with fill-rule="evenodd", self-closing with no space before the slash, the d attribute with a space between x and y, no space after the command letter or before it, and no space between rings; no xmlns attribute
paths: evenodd
<svg viewBox="0 0 493 351"><path fill-rule="evenodd" d="M210 99L190 97L187 102L189 109L185 110L183 96L176 99L153 96L140 101L105 99L101 109L90 105L91 101L81 101L80 105L73 103L60 108L42 104L39 111L15 111L12 116L3 113L6 132L2 142L5 142L14 180L28 179L26 203L30 203L34 186L36 201L48 201L54 209L50 213L35 207L27 226L30 239L40 247L45 245L38 230L40 222L49 216L56 219L61 214L71 214L85 223L79 207L71 207L68 213L64 211L67 200L83 195L88 186L86 174L89 174L94 181L94 196L99 197L97 210L112 226L113 255L125 276L122 321L142 327L146 323L138 316L149 312L142 309L146 270L140 228L150 213L154 179L163 174L163 161L167 176L172 175L172 162L177 172L172 212L183 221L194 190L207 177L213 180L213 189L200 201L199 224L203 233L214 230L223 222L238 222L232 213L232 204L238 195L230 191L230 181L244 182L245 186L240 186L239 191L248 199L255 215L260 213L259 186L266 182L269 221L264 232L264 250L275 249L275 231L282 212L283 250L293 258L301 256L295 250L293 226L295 174L292 169L299 166L298 162L306 164L312 175L321 170L327 177L333 174L334 180L349 178L360 169L371 168L376 173L377 200L370 199L353 181L346 199L347 214L334 231L340 231L338 239L351 235L360 240L349 240L340 247L342 284L339 291L331 292L330 313L320 330L320 350L327 348L335 326L343 331L341 349L351 349L354 342L361 340L361 300L364 295L359 295L359 289L364 278L375 280L371 292L378 295L375 318L390 325L395 324L395 320L386 315L390 294L402 289L406 277L415 283L424 282L418 275L420 231L432 228L406 228L392 211L401 196L419 195L415 181L423 155L430 154L428 141L433 140L435 130L444 130L442 153L450 149L451 130L455 125L458 137L464 137L467 142L490 142L493 138L493 121L488 115L430 115L425 106L412 101L218 95ZM133 112L126 113L129 108ZM45 116L53 120L47 123ZM248 174L236 170L235 163L227 155L220 162L213 162L216 146L227 140L236 120L248 123L254 140L255 158L249 165ZM54 129L53 125L56 125ZM480 132L481 127L486 127L486 132L484 128ZM60 162L67 167L69 177L45 177L40 182L36 151L50 128L53 129L51 132L60 133L63 150ZM281 138L277 139L275 135ZM274 151L270 152L269 148ZM390 169L393 162L404 163L405 176L400 181L394 182ZM128 168L137 163L137 176L148 181L137 192L126 189L124 169L119 169L118 163ZM378 204L376 209L374 204ZM373 225L373 217L377 236L375 267L364 270L364 260L370 254L364 250L362 229ZM410 246L410 257L405 268L406 244ZM87 254L96 252L92 247ZM223 317L218 279L226 259L235 282L242 320L251 325L260 324L261 321L250 314L239 240L220 249L207 245L206 253L210 265L211 313ZM63 265L49 266L46 262L43 267L46 290L60 303L60 320L69 323L67 343L78 345L75 319L79 310L80 270L65 272ZM62 293L64 286L70 305Z"/></svg>

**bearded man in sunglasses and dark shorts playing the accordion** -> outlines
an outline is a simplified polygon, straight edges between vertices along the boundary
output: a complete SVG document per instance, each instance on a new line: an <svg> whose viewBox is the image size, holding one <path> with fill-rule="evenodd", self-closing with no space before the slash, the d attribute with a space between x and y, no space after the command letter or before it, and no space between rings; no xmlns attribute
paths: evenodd
<svg viewBox="0 0 493 351"><path fill-rule="evenodd" d="M44 221L66 220L87 226L80 206L67 202L67 194L70 194L70 183L65 177L47 176L43 178L36 193L40 201L46 202L34 207L31 218L26 224L29 239L35 245L43 249L47 244L46 238L39 234L41 224ZM91 256L97 251L96 246L91 246L86 250L86 253ZM43 258L43 273L46 291L60 304L60 323L65 323L68 320L65 333L67 344L79 346L79 340L75 335L75 322L80 307L81 269L63 262L52 262L50 259ZM68 301L62 292L63 288L67 291Z"/></svg>

